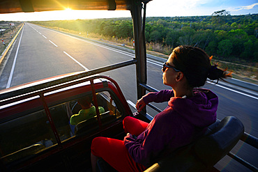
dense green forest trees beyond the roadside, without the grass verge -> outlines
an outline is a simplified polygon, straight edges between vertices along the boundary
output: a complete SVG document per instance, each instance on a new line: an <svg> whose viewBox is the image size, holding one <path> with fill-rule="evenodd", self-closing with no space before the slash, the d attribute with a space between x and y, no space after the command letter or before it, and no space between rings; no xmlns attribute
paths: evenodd
<svg viewBox="0 0 258 172"><path fill-rule="evenodd" d="M115 38L133 38L132 19L77 19L40 22L78 32ZM229 15L222 10L211 16L147 17L146 42L163 47L192 45L208 54L235 60L258 62L258 14Z"/></svg>

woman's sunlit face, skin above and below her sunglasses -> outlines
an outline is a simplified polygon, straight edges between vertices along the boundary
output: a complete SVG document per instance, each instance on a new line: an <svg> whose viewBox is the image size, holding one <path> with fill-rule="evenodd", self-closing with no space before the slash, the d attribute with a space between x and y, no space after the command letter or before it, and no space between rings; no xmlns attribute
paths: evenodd
<svg viewBox="0 0 258 172"><path fill-rule="evenodd" d="M167 60L167 65L175 67L174 64L172 63L172 54L170 54ZM176 75L177 75L177 72L173 68L165 68L162 75L163 84L167 86L172 86L173 88L174 84L176 83L175 82Z"/></svg>

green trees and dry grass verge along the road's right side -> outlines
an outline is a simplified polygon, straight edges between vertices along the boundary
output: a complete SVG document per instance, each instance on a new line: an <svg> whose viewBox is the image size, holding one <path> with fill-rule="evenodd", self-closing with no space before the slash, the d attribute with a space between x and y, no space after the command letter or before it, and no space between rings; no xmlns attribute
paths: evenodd
<svg viewBox="0 0 258 172"><path fill-rule="evenodd" d="M131 18L31 23L133 48ZM149 54L167 58L174 47L197 46L213 56L213 63L232 70L234 77L257 82L258 14L230 15L220 10L211 16L147 17L145 35Z"/></svg>

